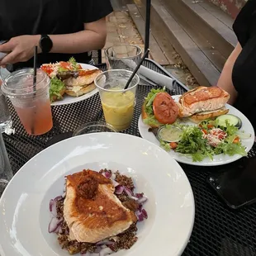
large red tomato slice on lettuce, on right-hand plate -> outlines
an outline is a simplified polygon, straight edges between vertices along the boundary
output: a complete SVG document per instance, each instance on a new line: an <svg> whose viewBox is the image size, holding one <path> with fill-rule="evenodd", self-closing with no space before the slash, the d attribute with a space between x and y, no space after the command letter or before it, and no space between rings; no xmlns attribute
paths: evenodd
<svg viewBox="0 0 256 256"><path fill-rule="evenodd" d="M159 92L154 98L155 118L162 124L173 124L178 118L178 106L167 92Z"/></svg>

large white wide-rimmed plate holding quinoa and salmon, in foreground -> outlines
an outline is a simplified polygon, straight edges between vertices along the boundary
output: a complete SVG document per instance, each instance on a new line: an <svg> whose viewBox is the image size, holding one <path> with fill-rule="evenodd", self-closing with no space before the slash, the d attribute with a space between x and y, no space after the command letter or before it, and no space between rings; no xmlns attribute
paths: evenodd
<svg viewBox="0 0 256 256"><path fill-rule="evenodd" d="M158 146L118 133L80 135L37 154L12 178L0 200L2 256L68 256L48 233L50 198L62 194L64 176L83 168L111 168L145 192L149 218L140 223L138 241L115 256L176 256L192 232L195 206L183 169ZM79 255L79 254L78 254Z"/></svg>

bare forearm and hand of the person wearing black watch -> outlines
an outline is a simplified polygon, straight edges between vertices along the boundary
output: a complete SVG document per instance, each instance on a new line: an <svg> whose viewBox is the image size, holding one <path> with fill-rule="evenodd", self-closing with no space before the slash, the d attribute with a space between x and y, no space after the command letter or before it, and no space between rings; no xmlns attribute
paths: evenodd
<svg viewBox="0 0 256 256"><path fill-rule="evenodd" d="M107 37L106 18L84 24L84 31L66 35L50 35L53 41L51 53L74 54L102 49ZM31 59L34 47L39 46L40 35L13 37L0 45L0 52L9 53L0 65L15 64ZM38 48L40 53L40 47Z"/></svg>

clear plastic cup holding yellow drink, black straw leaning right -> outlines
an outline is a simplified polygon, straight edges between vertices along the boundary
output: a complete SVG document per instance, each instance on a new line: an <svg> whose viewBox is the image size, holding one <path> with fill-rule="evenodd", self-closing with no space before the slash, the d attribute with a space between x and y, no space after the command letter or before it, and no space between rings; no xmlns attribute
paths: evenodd
<svg viewBox="0 0 256 256"><path fill-rule="evenodd" d="M130 87L124 90L131 74L128 70L113 69L100 73L94 81L100 93L105 121L117 131L129 128L133 117L140 78L135 74Z"/></svg>

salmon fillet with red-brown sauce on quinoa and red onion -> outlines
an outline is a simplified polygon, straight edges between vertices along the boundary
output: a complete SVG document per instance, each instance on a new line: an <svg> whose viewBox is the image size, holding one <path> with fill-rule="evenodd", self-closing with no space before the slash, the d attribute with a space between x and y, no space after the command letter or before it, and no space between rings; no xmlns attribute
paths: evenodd
<svg viewBox="0 0 256 256"><path fill-rule="evenodd" d="M111 180L100 173L73 173L66 186L64 220L71 240L97 243L127 230L137 220L115 196Z"/></svg>

